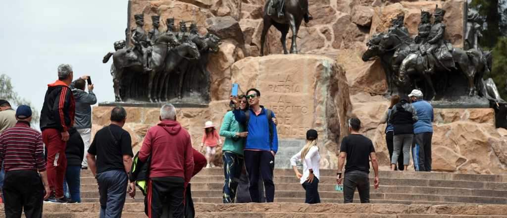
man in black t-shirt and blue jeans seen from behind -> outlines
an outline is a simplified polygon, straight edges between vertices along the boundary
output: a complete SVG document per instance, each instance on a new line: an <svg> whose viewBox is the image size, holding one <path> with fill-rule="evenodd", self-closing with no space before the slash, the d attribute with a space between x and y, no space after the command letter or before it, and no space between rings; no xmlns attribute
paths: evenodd
<svg viewBox="0 0 507 218"><path fill-rule="evenodd" d="M88 167L97 179L100 195L100 217L121 217L132 165L130 134L122 129L127 112L117 106L111 112L111 125L95 134L86 158ZM96 157L96 158L95 158ZM128 183L129 195L135 194L135 186Z"/></svg>

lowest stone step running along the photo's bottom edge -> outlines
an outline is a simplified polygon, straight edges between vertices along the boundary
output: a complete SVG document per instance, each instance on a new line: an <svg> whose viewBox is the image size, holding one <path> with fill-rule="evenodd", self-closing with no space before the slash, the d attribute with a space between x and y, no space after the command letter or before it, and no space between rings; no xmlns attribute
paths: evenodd
<svg viewBox="0 0 507 218"><path fill-rule="evenodd" d="M4 210L0 205L0 210ZM126 203L122 217L144 217L142 203ZM427 205L427 204L303 204L303 203L248 203L248 204L195 204L196 217L215 218L298 218L298 217L507 217L507 205ZM97 217L98 203L44 204L44 217ZM0 217L5 217L0 214Z"/></svg>

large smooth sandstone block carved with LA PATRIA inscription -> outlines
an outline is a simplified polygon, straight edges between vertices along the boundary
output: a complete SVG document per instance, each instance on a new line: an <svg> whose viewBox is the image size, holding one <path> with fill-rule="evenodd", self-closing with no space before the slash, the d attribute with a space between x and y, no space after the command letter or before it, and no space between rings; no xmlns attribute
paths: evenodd
<svg viewBox="0 0 507 218"><path fill-rule="evenodd" d="M350 110L342 67L322 56L269 55L242 59L233 64L231 73L231 82L242 90L261 91L261 103L278 118L278 138L302 139L307 129L315 128L329 141L321 148L322 158L330 167L336 165L337 138L345 134L343 121Z"/></svg>

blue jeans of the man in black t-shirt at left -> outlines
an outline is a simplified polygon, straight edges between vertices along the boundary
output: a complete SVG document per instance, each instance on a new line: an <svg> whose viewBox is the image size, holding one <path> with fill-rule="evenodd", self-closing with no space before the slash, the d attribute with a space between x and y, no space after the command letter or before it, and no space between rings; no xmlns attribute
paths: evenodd
<svg viewBox="0 0 507 218"><path fill-rule="evenodd" d="M122 216L127 195L128 177L125 170L109 170L95 176L100 194L100 218Z"/></svg>

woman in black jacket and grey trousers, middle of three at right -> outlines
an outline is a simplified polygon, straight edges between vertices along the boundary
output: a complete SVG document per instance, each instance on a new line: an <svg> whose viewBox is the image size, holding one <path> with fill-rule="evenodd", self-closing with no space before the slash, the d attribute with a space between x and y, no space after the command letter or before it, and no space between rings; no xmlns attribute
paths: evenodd
<svg viewBox="0 0 507 218"><path fill-rule="evenodd" d="M391 158L391 170L396 167L396 161L403 148L403 166L404 170L410 163L410 147L414 137L414 123L417 122L417 112L414 106L406 99L401 99L395 104L389 115L389 123L393 125L393 152Z"/></svg>

